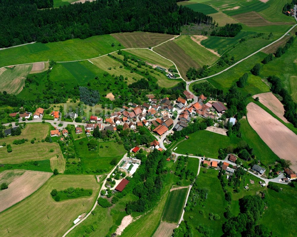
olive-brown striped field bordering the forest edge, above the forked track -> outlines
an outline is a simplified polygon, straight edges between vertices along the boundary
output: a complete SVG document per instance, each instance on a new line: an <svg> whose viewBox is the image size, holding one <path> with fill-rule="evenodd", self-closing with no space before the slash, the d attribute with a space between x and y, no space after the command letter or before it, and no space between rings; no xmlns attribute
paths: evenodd
<svg viewBox="0 0 297 237"><path fill-rule="evenodd" d="M149 32L126 32L111 34L111 36L127 48L147 48L155 47L158 44L172 39L175 35Z"/></svg>

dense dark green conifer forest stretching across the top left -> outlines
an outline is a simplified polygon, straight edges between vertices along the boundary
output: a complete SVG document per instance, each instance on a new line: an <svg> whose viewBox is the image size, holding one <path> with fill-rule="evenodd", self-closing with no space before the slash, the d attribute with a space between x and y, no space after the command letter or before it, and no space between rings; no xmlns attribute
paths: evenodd
<svg viewBox="0 0 297 237"><path fill-rule="evenodd" d="M212 23L210 16L178 6L175 0L143 0L141 4L137 0L97 0L38 9L42 2L51 1L0 0L0 48L117 32L179 34L185 24Z"/></svg>

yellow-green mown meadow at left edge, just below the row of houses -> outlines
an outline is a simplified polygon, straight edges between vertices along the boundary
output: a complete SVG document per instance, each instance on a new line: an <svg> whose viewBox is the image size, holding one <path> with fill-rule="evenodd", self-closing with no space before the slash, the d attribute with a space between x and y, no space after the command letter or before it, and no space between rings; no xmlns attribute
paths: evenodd
<svg viewBox="0 0 297 237"><path fill-rule="evenodd" d="M7 136L1 139L1 143L11 144L12 152L8 153L6 147L1 148L0 163L17 164L30 160L45 160L53 155L60 153L61 149L56 142L41 142L48 135L51 125L48 123L27 123L19 136ZM36 138L34 144L31 139ZM17 139L28 139L23 144L12 144ZM39 142L38 142L39 141ZM53 152L49 152L53 149Z"/></svg>

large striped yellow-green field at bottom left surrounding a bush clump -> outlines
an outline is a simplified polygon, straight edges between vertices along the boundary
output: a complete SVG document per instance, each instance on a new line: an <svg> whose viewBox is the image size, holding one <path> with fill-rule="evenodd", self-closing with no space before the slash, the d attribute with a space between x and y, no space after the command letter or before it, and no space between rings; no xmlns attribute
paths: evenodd
<svg viewBox="0 0 297 237"><path fill-rule="evenodd" d="M68 187L92 189L93 194L60 202L50 196L51 190ZM92 175L53 176L33 195L0 214L0 235L62 236L80 214L90 211L98 191L99 185Z"/></svg>

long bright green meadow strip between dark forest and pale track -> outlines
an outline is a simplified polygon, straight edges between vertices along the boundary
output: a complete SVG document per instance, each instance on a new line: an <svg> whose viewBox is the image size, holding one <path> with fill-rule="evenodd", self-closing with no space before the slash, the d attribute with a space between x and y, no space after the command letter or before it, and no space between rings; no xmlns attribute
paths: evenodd
<svg viewBox="0 0 297 237"><path fill-rule="evenodd" d="M114 43L114 47L111 44ZM110 35L92 36L87 39L69 39L47 44L34 43L0 51L0 67L21 63L73 61L95 58L123 49Z"/></svg>

